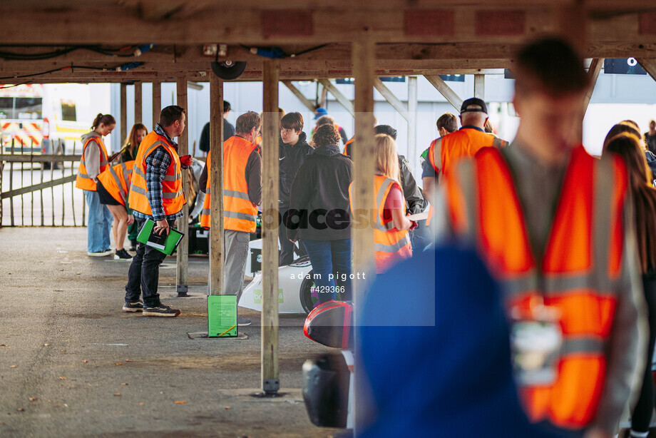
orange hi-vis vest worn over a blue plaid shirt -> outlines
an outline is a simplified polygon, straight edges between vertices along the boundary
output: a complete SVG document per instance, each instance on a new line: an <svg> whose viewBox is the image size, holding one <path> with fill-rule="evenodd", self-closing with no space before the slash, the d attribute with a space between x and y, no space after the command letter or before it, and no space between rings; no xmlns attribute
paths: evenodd
<svg viewBox="0 0 656 438"><path fill-rule="evenodd" d="M162 181L162 203L165 215L179 213L186 203L182 172L180 170L180 157L175 148L168 143L166 137L152 131L143 138L139 145L133 168L132 184L130 185L129 206L144 215L153 215L153 210L151 210L148 202L148 186L145 183L145 159L160 146L171 156L171 163L166 169Z"/></svg>

